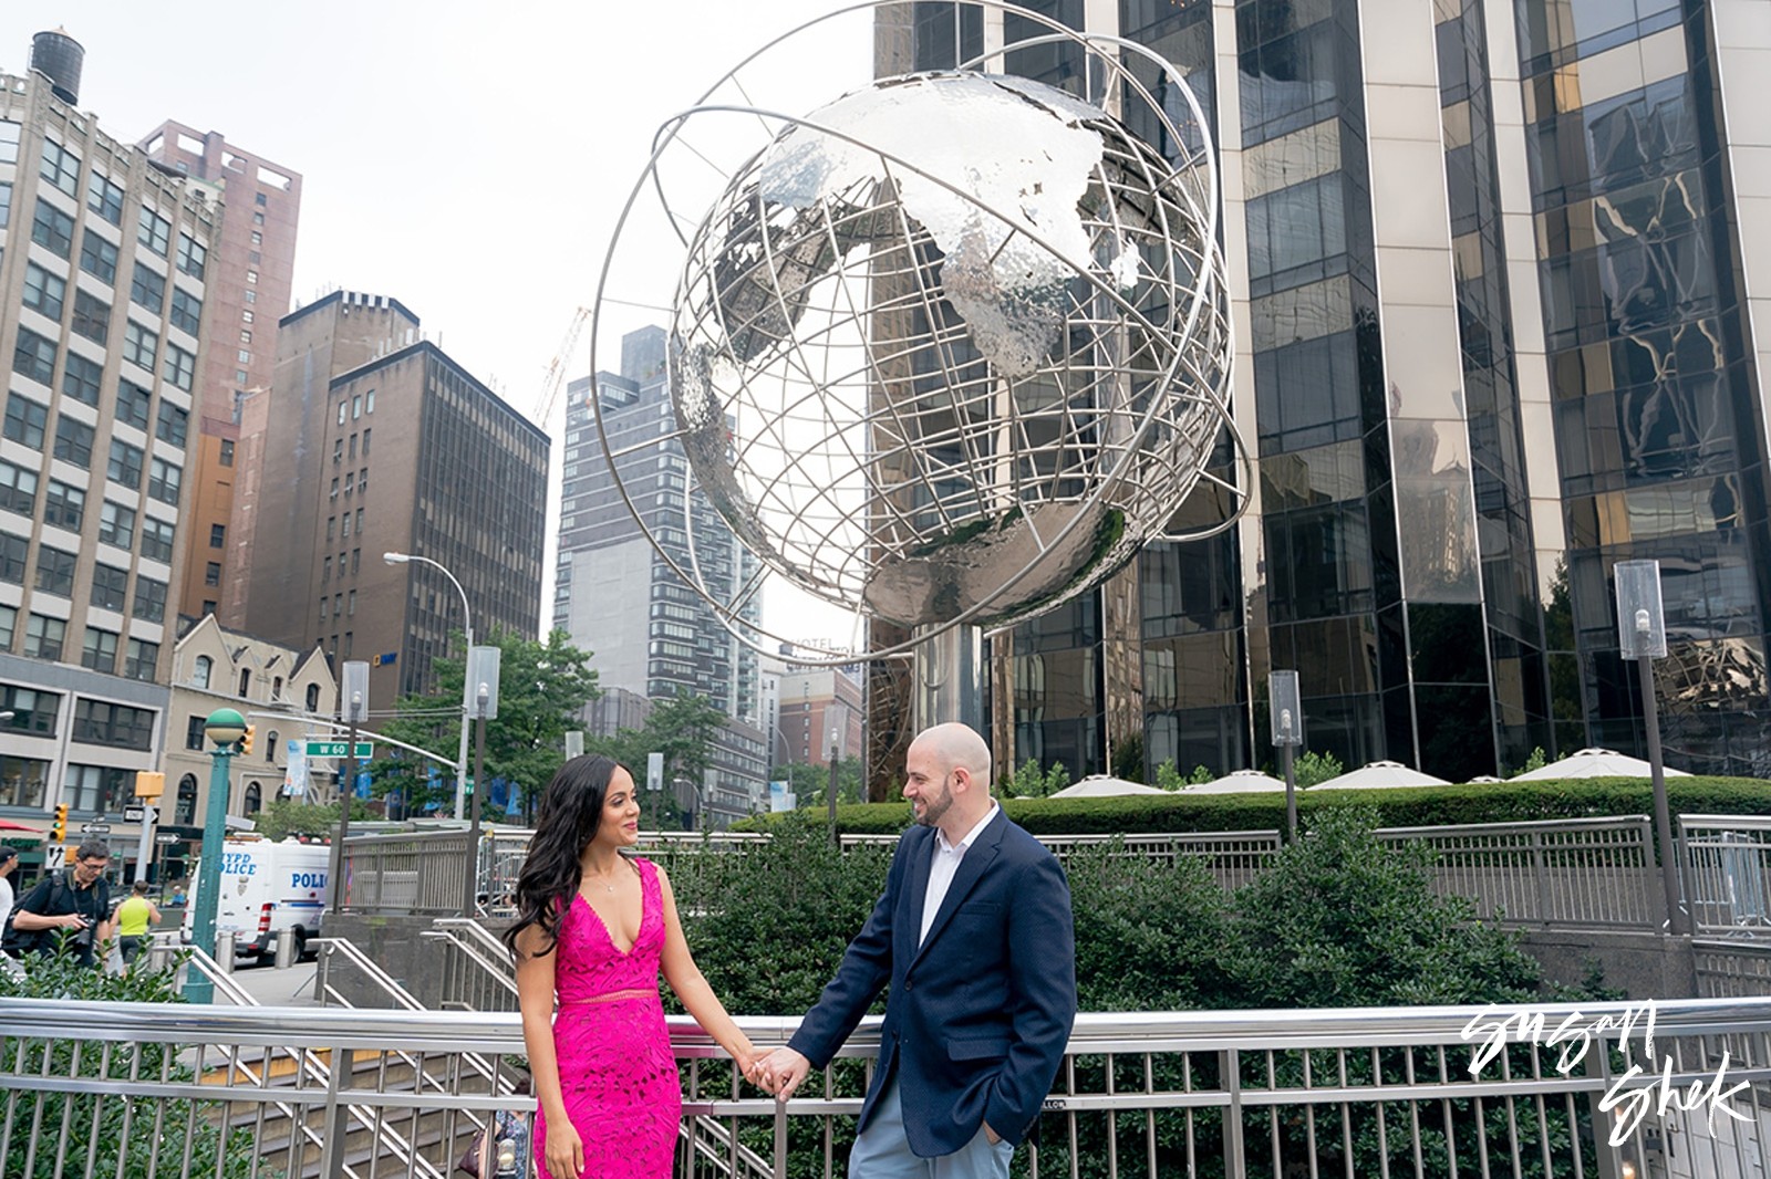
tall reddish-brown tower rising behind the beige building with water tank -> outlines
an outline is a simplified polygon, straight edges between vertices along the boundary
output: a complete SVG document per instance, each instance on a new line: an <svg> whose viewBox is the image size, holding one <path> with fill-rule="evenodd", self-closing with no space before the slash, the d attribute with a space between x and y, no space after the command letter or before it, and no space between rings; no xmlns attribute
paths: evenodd
<svg viewBox="0 0 1771 1179"><path fill-rule="evenodd" d="M151 163L214 193L216 239L209 250L209 317L216 345L198 372L193 471L186 480L191 543L179 613L244 620L251 551L228 543L241 414L271 386L276 320L289 312L296 271L301 175L227 142L163 122L142 138Z"/></svg>

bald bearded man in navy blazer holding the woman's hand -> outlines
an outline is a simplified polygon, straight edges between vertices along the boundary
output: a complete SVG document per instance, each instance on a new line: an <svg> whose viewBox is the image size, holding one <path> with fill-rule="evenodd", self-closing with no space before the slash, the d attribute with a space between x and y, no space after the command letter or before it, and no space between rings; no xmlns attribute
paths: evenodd
<svg viewBox="0 0 1771 1179"><path fill-rule="evenodd" d="M903 797L916 827L886 894L799 1032L762 1060L763 1085L793 1096L889 981L850 1179L1008 1179L1077 1014L1070 885L990 797L990 747L963 724L910 742Z"/></svg>

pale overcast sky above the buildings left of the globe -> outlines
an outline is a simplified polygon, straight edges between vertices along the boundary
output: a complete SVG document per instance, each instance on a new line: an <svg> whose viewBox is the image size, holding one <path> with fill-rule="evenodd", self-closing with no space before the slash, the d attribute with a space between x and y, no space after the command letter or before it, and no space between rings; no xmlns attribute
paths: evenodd
<svg viewBox="0 0 1771 1179"><path fill-rule="evenodd" d="M23 73L30 35L62 27L85 46L80 106L113 138L175 119L299 172L294 297L393 296L533 414L659 124L751 50L838 7L5 0L0 71ZM870 50L850 18L800 67L760 81L806 112L861 85ZM588 343L567 377L588 370ZM547 577L544 600L551 565ZM781 588L765 609L792 636L848 637L845 616L808 613Z"/></svg>

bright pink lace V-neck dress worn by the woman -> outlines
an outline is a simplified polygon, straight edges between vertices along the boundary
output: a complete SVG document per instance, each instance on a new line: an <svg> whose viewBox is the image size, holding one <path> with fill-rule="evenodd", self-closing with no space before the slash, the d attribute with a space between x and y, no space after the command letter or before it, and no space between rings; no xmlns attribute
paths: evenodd
<svg viewBox="0 0 1771 1179"><path fill-rule="evenodd" d="M584 1140L584 1179L669 1179L682 1121L677 1057L659 1000L664 896L659 871L634 859L643 910L625 954L584 898L560 924L554 1052L565 1110ZM535 1119L535 1170L547 1172L547 1119Z"/></svg>

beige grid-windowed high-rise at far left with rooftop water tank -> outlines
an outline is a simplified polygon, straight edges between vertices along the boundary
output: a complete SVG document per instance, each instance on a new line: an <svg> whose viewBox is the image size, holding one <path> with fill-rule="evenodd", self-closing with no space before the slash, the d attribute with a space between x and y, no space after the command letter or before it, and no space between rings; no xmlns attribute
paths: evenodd
<svg viewBox="0 0 1771 1179"><path fill-rule="evenodd" d="M165 747L216 207L78 110L78 42L35 48L67 69L0 76L0 814L66 802L120 852Z"/></svg>

